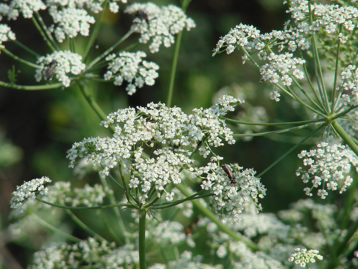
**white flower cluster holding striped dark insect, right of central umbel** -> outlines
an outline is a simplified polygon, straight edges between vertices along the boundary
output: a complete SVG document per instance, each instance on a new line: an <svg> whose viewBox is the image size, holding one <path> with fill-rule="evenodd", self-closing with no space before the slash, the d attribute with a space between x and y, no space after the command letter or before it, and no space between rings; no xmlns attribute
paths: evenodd
<svg viewBox="0 0 358 269"><path fill-rule="evenodd" d="M193 176L207 175L201 187L214 193L209 205L218 215L218 219L223 223L226 219L232 219L234 223L238 223L240 213L250 201L255 203L257 213L262 210L258 198L265 197L266 189L261 184L260 178L255 177L256 171L253 169L243 170L243 167L238 164L233 164L230 169L236 178L234 182L231 182L227 174L213 162L196 169Z"/></svg>

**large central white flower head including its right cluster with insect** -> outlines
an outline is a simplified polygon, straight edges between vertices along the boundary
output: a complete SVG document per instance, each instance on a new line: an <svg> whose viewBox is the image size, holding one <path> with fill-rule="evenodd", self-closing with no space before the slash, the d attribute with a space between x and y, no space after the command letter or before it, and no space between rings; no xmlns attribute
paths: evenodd
<svg viewBox="0 0 358 269"><path fill-rule="evenodd" d="M190 115L163 103L149 103L147 108L137 107L137 110L120 109L101 123L105 127L115 127L113 137L90 137L75 143L67 155L70 167L87 159L102 166L102 177L109 176L115 167L127 167L129 192L137 197L135 203L144 205L163 194L167 201L172 201L175 193L169 189L169 184L182 181L183 169L192 172L193 177L210 169L212 174L203 182L203 189L216 191L212 207L222 221L224 217L238 221L237 214L249 199L257 202L258 197L265 195L265 188L254 177L255 172L251 169L240 171L242 167L235 165L233 173L238 185L227 186L230 181L219 168L221 157L212 157L212 162L216 163L209 163L210 168L193 167L195 152L207 157L212 148L223 146L223 141L235 143L232 131L221 116L233 111L238 102L243 101L224 95L210 108L195 108Z"/></svg>

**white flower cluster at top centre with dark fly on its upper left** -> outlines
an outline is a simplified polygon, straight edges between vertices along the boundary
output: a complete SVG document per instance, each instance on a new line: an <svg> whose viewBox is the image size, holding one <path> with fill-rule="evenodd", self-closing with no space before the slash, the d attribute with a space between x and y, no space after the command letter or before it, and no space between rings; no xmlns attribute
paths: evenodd
<svg viewBox="0 0 358 269"><path fill-rule="evenodd" d="M184 28L188 31L195 27L195 22L177 6L168 5L159 7L151 2L146 4L134 3L128 6L125 11L136 15L133 20L131 30L141 34L139 42L147 43L152 39L149 45L150 52L158 52L161 44L170 47L174 44L174 35L178 34ZM138 13L140 12L140 13Z"/></svg>

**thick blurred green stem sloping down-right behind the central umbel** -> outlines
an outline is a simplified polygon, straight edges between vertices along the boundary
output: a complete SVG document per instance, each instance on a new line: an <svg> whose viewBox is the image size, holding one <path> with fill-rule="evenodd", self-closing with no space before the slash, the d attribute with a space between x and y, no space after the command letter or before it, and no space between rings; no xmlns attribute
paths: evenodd
<svg viewBox="0 0 358 269"><path fill-rule="evenodd" d="M190 191L184 187L183 184L177 184L176 187L180 190L180 192L182 192L185 196L190 196L191 193ZM259 248L257 247L257 245L255 243L253 243L251 240L242 237L239 233L234 232L232 229L230 229L229 227L227 227L225 224L219 222L217 216L211 211L209 210L206 206L204 206L200 201L198 200L191 200L192 203L194 204L194 206L206 217L208 217L209 219L212 220L212 222L214 222L218 228L223 232L226 233L227 235L229 235L231 238L233 238L234 240L237 241L242 241L243 243L246 244L246 246L254 251L259 250Z"/></svg>

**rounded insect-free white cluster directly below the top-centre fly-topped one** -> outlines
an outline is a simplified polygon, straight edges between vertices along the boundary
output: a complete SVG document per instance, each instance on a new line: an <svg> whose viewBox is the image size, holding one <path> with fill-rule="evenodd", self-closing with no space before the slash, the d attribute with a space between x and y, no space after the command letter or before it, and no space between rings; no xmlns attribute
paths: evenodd
<svg viewBox="0 0 358 269"><path fill-rule="evenodd" d="M123 81L129 84L126 87L128 95L136 92L136 87L143 87L144 84L153 86L155 78L158 77L156 72L159 66L154 62L142 60L147 55L142 52L121 52L118 57L115 54L106 57L108 71L105 73L105 80L114 79L114 85L120 86Z"/></svg>

